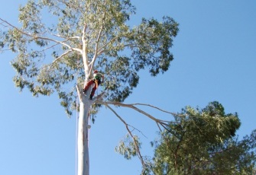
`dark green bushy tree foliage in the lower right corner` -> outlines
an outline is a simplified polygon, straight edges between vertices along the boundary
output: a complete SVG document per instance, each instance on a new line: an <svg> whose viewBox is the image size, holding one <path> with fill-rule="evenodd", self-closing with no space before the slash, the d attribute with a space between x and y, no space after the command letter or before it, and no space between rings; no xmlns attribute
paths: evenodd
<svg viewBox="0 0 256 175"><path fill-rule="evenodd" d="M186 107L161 133L147 174L254 174L253 131L241 141L237 113L225 114L218 102L203 110ZM254 173L253 173L254 172Z"/></svg>

